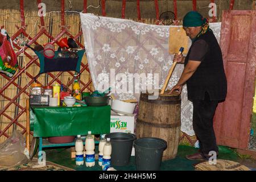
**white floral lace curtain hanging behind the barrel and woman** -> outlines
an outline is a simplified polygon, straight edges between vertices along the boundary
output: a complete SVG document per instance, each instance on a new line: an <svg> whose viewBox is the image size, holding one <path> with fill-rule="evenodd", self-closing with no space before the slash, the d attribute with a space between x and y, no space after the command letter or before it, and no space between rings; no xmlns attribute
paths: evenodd
<svg viewBox="0 0 256 182"><path fill-rule="evenodd" d="M86 57L94 88L112 92L121 100L139 100L143 88L161 89L174 55L168 53L170 27L80 14ZM221 23L210 23L214 35L220 40ZM189 45L191 41L189 40ZM184 65L177 64L168 89L180 78ZM134 76L145 79L134 80ZM124 86L127 85L127 86ZM181 93L181 131L195 135L192 127L192 102L187 99L187 87Z"/></svg>

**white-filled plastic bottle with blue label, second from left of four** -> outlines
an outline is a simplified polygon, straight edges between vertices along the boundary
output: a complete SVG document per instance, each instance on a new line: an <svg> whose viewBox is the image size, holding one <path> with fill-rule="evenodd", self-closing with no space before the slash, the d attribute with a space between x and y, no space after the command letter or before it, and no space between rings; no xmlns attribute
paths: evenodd
<svg viewBox="0 0 256 182"><path fill-rule="evenodd" d="M95 165L95 153L94 153L94 138L92 132L88 131L88 135L85 139L85 166L93 167Z"/></svg>

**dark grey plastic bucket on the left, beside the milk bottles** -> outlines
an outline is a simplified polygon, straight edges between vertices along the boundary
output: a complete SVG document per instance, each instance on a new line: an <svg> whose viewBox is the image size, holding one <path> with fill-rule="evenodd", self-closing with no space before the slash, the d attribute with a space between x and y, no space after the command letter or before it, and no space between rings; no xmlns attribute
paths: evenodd
<svg viewBox="0 0 256 182"><path fill-rule="evenodd" d="M110 138L112 145L111 165L126 166L130 162L131 150L136 135L115 132L105 135L105 138Z"/></svg>

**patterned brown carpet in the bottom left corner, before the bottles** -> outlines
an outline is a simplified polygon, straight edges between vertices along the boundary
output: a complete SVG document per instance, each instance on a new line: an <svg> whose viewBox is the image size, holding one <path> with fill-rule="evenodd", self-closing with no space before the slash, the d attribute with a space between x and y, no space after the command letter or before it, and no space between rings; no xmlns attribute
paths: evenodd
<svg viewBox="0 0 256 182"><path fill-rule="evenodd" d="M2 168L0 171L75 171L75 169L61 166L52 162L46 162L44 167L35 167L38 165L38 159L34 158L27 163L17 166Z"/></svg>

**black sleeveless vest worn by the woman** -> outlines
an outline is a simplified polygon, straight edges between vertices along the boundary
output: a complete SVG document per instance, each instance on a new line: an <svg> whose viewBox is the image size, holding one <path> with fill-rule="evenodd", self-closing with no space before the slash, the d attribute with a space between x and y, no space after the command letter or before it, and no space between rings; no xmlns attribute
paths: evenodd
<svg viewBox="0 0 256 182"><path fill-rule="evenodd" d="M197 40L200 39L205 40L209 48L205 54L204 60L187 81L188 100L204 100L205 92L209 93L210 100L212 101L225 100L227 82L221 48L214 34L210 31L197 38ZM191 48L194 43L192 43ZM185 65L188 63L191 48L189 48L184 61Z"/></svg>

